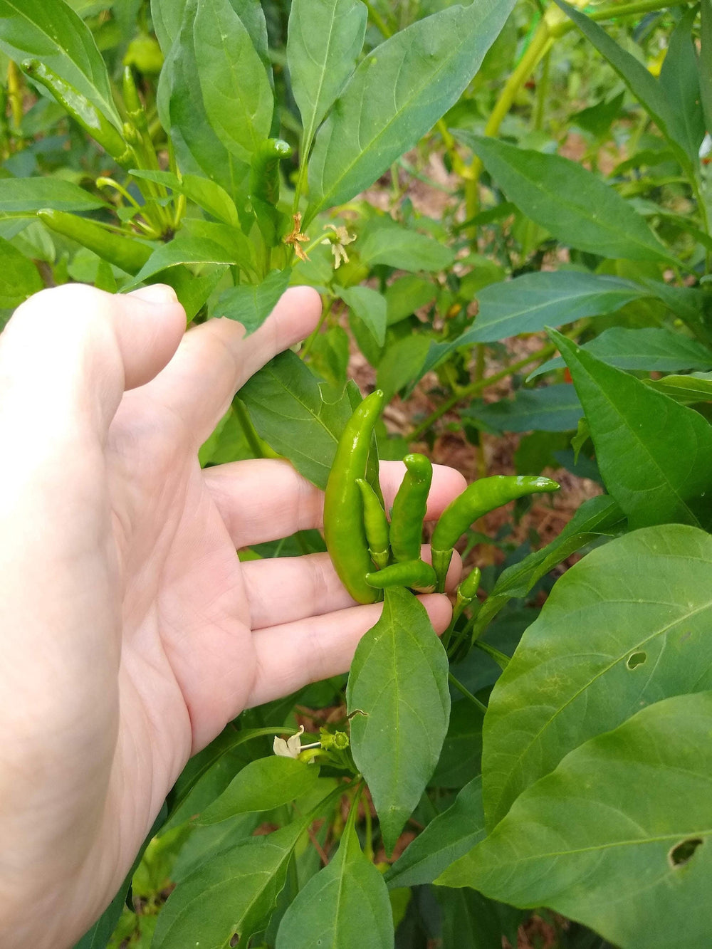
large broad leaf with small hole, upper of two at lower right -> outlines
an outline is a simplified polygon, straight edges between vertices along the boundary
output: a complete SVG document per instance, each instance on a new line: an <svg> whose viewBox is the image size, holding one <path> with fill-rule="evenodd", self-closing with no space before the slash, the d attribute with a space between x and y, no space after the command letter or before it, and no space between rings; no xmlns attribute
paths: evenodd
<svg viewBox="0 0 712 949"><path fill-rule="evenodd" d="M490 698L488 827L588 738L712 688L711 581L712 537L680 524L612 540L560 578Z"/></svg>

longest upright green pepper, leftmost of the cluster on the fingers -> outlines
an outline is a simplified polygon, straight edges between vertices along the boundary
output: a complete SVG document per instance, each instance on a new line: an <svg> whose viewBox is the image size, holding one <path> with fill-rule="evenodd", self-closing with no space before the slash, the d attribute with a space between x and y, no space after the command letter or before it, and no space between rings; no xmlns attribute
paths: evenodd
<svg viewBox="0 0 712 949"><path fill-rule="evenodd" d="M376 590L365 582L371 569L357 478L365 476L371 433L384 406L372 392L356 406L339 439L324 495L324 538L334 568L358 603L375 603Z"/></svg>

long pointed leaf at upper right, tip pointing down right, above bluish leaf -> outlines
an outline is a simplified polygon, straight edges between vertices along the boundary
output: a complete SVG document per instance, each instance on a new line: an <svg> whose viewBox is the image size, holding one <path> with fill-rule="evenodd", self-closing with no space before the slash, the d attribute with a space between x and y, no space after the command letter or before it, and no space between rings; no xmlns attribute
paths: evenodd
<svg viewBox="0 0 712 949"><path fill-rule="evenodd" d="M458 130L519 210L563 244L605 257L674 260L646 220L583 165Z"/></svg>

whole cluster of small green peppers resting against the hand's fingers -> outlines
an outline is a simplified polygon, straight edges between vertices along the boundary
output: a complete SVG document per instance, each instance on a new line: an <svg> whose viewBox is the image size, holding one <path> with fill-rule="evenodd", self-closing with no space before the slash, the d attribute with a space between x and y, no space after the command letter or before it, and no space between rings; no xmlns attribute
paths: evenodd
<svg viewBox="0 0 712 949"><path fill-rule="evenodd" d="M329 555L348 592L364 604L380 600L389 586L444 592L455 545L479 517L517 497L559 488L547 477L497 474L480 478L441 513L431 541L431 566L422 560L421 542L433 466L424 455L405 456L406 471L389 524L373 448L373 430L383 406L384 395L376 391L354 410L339 439L324 500ZM478 585L476 568L458 587L457 616L473 602Z"/></svg>

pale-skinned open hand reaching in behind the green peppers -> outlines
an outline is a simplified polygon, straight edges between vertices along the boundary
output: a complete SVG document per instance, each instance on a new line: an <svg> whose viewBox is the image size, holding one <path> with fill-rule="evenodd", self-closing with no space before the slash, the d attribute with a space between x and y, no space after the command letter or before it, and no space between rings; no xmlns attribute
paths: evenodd
<svg viewBox="0 0 712 949"><path fill-rule="evenodd" d="M234 392L316 325L294 288L252 336L185 333L170 288L30 298L0 335L0 943L71 946L191 754L244 708L347 670L380 605L327 554L235 549L321 526L280 460L201 472ZM386 503L403 466L384 465ZM428 516L464 488L436 466ZM453 568L456 569L456 568ZM446 597L422 597L435 628Z"/></svg>

